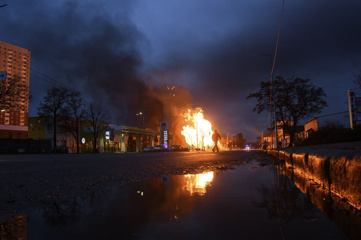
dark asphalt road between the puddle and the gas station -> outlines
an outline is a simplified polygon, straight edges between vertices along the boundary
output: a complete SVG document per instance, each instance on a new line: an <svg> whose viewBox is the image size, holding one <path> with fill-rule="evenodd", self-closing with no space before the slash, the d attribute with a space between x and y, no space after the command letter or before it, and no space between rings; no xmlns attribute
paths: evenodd
<svg viewBox="0 0 361 240"><path fill-rule="evenodd" d="M161 176L225 171L244 161L269 163L261 150L0 156L0 216Z"/></svg>

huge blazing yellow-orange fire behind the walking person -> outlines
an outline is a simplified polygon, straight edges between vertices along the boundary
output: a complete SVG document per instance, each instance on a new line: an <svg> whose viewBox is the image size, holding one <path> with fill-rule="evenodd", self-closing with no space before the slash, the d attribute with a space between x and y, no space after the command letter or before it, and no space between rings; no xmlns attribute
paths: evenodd
<svg viewBox="0 0 361 240"><path fill-rule="evenodd" d="M212 141L212 124L203 116L202 108L196 108L195 110L188 109L188 112L183 114L184 123L182 135L186 138L186 142L189 146L194 145L194 148L203 148L206 150L213 148Z"/></svg>

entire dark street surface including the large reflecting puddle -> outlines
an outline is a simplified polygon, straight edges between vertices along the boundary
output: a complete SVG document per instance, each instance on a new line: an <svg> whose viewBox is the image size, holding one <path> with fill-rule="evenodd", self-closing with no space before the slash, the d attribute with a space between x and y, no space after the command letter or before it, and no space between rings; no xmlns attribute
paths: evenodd
<svg viewBox="0 0 361 240"><path fill-rule="evenodd" d="M260 150L12 155L0 167L1 222L25 216L28 239L360 236L360 214Z"/></svg>

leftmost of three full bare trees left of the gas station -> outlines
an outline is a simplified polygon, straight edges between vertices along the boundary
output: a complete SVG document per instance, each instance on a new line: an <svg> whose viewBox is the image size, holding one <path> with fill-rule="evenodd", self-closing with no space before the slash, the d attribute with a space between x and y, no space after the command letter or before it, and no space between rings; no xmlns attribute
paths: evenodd
<svg viewBox="0 0 361 240"><path fill-rule="evenodd" d="M45 122L53 126L53 145L54 153L56 153L56 131L58 123L60 123L61 116L68 107L68 101L77 95L77 92L66 87L55 87L48 89L47 95L44 96L44 101L40 101L38 109L38 116L43 117Z"/></svg>

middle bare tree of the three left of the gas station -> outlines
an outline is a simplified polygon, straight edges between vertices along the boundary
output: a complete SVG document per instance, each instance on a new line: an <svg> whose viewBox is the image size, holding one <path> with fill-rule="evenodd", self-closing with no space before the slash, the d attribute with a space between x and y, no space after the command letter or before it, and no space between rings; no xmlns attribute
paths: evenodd
<svg viewBox="0 0 361 240"><path fill-rule="evenodd" d="M74 91L73 96L69 96L62 112L61 128L70 132L77 142L77 153L79 153L80 126L84 122L86 103L79 91Z"/></svg>

